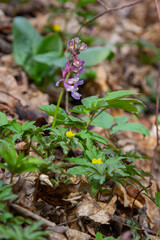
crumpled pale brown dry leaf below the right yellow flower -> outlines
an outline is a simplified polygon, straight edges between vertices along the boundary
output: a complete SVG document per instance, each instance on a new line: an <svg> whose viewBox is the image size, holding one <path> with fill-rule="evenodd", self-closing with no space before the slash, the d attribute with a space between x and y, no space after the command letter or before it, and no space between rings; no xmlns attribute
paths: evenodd
<svg viewBox="0 0 160 240"><path fill-rule="evenodd" d="M96 202L93 199L84 200L78 206L76 214L78 217L89 217L95 222L107 224L116 210L116 200L117 196L114 196L108 204L103 202Z"/></svg>

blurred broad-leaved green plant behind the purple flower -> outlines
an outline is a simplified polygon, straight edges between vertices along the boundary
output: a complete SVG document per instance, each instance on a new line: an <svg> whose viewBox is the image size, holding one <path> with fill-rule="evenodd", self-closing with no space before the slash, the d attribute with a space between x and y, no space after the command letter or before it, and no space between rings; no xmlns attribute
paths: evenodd
<svg viewBox="0 0 160 240"><path fill-rule="evenodd" d="M34 79L35 84L42 86L44 78L47 84L53 81L66 62L62 38L58 33L42 37L27 19L16 17L13 21L13 38L14 59ZM89 67L105 59L111 60L114 54L107 47L91 47L80 57L84 58L86 67Z"/></svg>

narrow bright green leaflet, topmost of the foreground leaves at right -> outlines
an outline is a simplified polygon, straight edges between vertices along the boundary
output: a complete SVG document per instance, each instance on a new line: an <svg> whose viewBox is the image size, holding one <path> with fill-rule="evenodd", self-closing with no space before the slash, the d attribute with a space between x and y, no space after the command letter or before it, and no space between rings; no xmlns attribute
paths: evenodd
<svg viewBox="0 0 160 240"><path fill-rule="evenodd" d="M122 97L126 97L128 95L135 95L135 94L137 94L137 93L132 92L130 90L115 91L115 92L107 93L107 95L104 97L104 99L107 101L111 101L111 100L119 99Z"/></svg>

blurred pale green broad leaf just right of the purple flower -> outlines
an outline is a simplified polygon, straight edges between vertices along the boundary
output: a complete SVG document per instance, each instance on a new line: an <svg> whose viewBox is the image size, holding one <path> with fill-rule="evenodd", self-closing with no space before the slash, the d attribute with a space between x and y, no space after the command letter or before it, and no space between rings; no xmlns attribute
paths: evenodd
<svg viewBox="0 0 160 240"><path fill-rule="evenodd" d="M110 54L112 51L108 47L90 47L85 52L81 52L80 58L84 59L85 66L89 67L101 63L109 58Z"/></svg>

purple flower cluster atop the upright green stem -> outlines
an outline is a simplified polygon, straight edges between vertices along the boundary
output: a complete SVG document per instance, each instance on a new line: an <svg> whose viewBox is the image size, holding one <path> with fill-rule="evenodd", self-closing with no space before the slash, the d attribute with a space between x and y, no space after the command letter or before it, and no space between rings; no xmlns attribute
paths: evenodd
<svg viewBox="0 0 160 240"><path fill-rule="evenodd" d="M82 96L78 93L78 86L84 83L83 80L79 80L79 75L85 72L85 61L79 59L78 55L87 49L87 45L84 43L80 44L80 42L81 40L76 37L67 43L70 56L65 64L65 69L62 71L63 78L56 83L56 86L62 83L66 91L71 92L72 97L76 100L79 100ZM73 75L73 77L69 78L71 75Z"/></svg>

